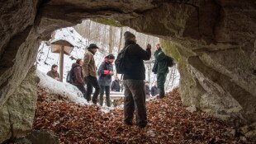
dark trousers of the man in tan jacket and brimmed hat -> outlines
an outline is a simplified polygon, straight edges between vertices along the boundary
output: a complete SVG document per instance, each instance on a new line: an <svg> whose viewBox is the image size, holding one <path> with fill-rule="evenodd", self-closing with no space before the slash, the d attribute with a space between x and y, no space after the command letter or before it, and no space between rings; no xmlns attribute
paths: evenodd
<svg viewBox="0 0 256 144"><path fill-rule="evenodd" d="M92 77L92 76L88 76L86 77L86 80L88 81L87 84L87 99L88 101L91 100L91 95L92 95L92 87L94 87L95 91L94 94L92 96L92 103L97 104L97 96L100 93L100 86L98 85L97 82L97 77Z"/></svg>

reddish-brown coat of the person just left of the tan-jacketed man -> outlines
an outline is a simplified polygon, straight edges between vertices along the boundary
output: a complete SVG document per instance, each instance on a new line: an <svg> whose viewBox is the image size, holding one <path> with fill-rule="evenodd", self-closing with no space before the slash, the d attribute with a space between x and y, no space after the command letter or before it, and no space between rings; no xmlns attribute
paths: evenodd
<svg viewBox="0 0 256 144"><path fill-rule="evenodd" d="M75 86L84 86L82 67L79 66L78 63L73 63L72 69L73 69L73 83L72 84Z"/></svg>

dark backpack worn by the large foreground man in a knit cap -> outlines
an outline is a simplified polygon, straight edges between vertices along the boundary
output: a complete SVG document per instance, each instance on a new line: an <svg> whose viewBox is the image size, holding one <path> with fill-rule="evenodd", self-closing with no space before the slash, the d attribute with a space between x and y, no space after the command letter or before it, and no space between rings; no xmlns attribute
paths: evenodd
<svg viewBox="0 0 256 144"><path fill-rule="evenodd" d="M129 48L130 45L128 45L125 49L122 49L120 53L118 53L115 66L116 66L116 72L118 74L124 74L126 72L126 51Z"/></svg>

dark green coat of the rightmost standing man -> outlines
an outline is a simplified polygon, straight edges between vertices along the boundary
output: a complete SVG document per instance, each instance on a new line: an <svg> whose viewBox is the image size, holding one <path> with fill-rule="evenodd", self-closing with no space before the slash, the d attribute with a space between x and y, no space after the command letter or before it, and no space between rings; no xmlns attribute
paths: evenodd
<svg viewBox="0 0 256 144"><path fill-rule="evenodd" d="M154 58L155 62L152 72L154 74L168 73L168 56L164 54L161 48L154 52Z"/></svg>

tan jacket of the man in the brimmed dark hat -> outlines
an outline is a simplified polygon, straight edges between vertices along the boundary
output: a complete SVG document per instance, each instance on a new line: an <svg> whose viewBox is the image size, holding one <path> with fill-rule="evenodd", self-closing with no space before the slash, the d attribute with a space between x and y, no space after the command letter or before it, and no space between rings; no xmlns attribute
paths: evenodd
<svg viewBox="0 0 256 144"><path fill-rule="evenodd" d="M83 76L97 77L97 67L93 58L93 53L88 51L84 54L83 58Z"/></svg>

